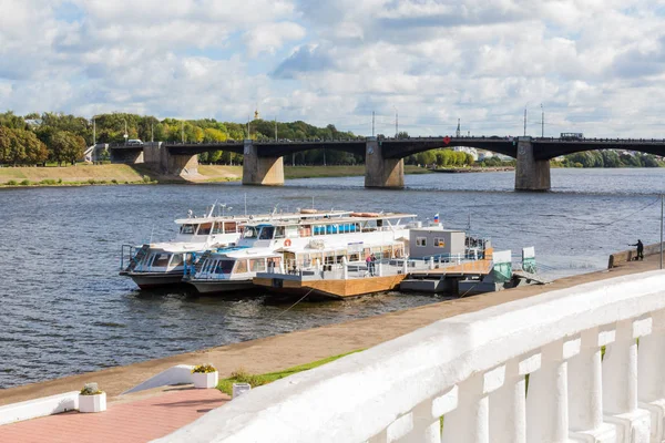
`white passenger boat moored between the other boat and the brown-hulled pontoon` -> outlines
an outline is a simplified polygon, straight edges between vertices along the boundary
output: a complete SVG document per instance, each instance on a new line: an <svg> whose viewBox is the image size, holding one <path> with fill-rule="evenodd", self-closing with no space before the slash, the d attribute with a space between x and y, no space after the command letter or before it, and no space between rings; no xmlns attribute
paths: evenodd
<svg viewBox="0 0 665 443"><path fill-rule="evenodd" d="M318 262L364 264L368 255L403 254L413 214L351 213L335 217L248 223L235 248L207 251L184 281L201 293L253 288L257 272L297 271Z"/></svg>

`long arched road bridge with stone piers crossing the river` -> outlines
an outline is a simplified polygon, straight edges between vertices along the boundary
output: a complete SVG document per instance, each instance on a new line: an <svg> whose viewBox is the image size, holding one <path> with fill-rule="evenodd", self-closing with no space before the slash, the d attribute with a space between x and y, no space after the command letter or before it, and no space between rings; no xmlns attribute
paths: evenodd
<svg viewBox="0 0 665 443"><path fill-rule="evenodd" d="M469 146L516 158L515 189L548 190L551 187L550 159L584 151L628 150L665 156L665 140L633 138L535 138L523 137L376 137L338 141L252 141L227 143L146 143L139 146L111 146L111 158L119 163L145 163L165 175L195 174L197 155L227 151L244 155L243 184L279 186L284 184L285 155L309 150L344 151L365 157L365 186L401 188L405 185L403 158L423 151Z"/></svg>

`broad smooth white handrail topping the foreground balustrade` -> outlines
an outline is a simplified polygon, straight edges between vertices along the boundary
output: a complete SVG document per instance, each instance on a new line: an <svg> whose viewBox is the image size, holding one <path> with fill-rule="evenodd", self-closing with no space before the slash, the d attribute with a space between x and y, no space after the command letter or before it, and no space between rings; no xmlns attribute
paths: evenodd
<svg viewBox="0 0 665 443"><path fill-rule="evenodd" d="M364 442L474 374L664 308L662 271L502 303L250 391L158 442Z"/></svg>

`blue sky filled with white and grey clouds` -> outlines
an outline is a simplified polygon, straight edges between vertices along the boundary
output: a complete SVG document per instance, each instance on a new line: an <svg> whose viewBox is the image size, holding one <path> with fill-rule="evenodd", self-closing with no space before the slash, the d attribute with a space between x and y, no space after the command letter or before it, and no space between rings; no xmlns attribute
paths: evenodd
<svg viewBox="0 0 665 443"><path fill-rule="evenodd" d="M665 137L665 0L0 0L0 110Z"/></svg>

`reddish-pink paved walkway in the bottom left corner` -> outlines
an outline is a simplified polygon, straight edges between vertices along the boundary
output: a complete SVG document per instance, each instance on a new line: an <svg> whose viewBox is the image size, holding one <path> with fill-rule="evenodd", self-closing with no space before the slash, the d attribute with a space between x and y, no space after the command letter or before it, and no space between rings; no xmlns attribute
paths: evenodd
<svg viewBox="0 0 665 443"><path fill-rule="evenodd" d="M177 389L149 399L110 404L105 412L66 412L0 426L1 443L149 442L228 401L216 389Z"/></svg>

